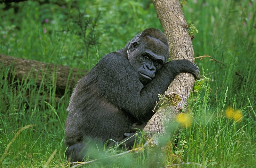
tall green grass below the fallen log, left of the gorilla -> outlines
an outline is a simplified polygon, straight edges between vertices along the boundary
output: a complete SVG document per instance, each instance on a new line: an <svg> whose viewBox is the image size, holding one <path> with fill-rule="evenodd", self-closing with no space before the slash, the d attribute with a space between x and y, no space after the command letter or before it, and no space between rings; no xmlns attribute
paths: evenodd
<svg viewBox="0 0 256 168"><path fill-rule="evenodd" d="M63 96L57 101L52 94L56 87L53 84L42 84L38 88L36 81L29 76L17 80L14 70L3 66L0 70L0 78L3 79L0 90L1 153L20 128L29 124L34 126L16 137L4 157L3 167L44 165L55 149L58 151L55 157L62 159L63 121L66 119L68 99Z"/></svg>

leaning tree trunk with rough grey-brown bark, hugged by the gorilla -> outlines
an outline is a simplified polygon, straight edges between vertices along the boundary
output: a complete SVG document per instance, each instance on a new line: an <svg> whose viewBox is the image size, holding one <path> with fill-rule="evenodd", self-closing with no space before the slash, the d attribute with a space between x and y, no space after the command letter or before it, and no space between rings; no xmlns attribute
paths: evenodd
<svg viewBox="0 0 256 168"><path fill-rule="evenodd" d="M194 50L188 31L188 24L181 9L179 0L153 0L157 17L160 20L164 33L169 41L171 60L187 59L194 62ZM192 74L181 73L170 84L165 94L178 95L181 100L177 105L160 107L144 128L148 138L157 133L165 134L165 123L170 123L175 115L186 108L189 93L193 89L195 78ZM157 143L156 141L154 141Z"/></svg>

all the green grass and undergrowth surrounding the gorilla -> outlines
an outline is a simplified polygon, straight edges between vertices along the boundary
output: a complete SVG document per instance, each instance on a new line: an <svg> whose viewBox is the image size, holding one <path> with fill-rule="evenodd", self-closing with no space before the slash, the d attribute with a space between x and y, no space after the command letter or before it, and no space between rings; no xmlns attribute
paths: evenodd
<svg viewBox="0 0 256 168"><path fill-rule="evenodd" d="M122 48L144 28L161 29L154 6L146 1L65 1L65 6L58 3L26 1L12 4L8 10L0 4L0 53L91 69L100 57ZM79 33L79 28L72 22L77 6L86 17L95 18L101 11L94 32L99 39L89 48L89 56L86 56L85 43L75 34ZM204 72L204 83L201 82L202 89L194 93L189 102L188 112L193 115L193 122L175 135L178 142L172 140L172 152L180 150L183 140L188 146L183 148L184 162L216 168L254 167L256 3L252 0L187 1L183 11L188 24L199 29L193 39L195 57L210 55L221 63L207 57L196 59L201 74ZM0 64L2 166L65 165L64 123L70 89L57 99L56 85L45 80L47 76L37 87L32 77L17 79L14 71ZM51 81L55 80L53 76ZM241 122L227 118L228 106L242 112ZM30 124L34 125L24 128ZM19 132L20 129L24 130ZM87 167L161 167L168 164L168 159L161 160L161 155L156 153L143 150L142 155L127 154Z"/></svg>

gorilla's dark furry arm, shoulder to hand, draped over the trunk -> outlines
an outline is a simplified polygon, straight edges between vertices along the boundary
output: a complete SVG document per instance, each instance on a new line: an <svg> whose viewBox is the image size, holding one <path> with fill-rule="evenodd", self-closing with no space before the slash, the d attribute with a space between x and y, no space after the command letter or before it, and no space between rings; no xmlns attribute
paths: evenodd
<svg viewBox="0 0 256 168"><path fill-rule="evenodd" d="M180 72L194 72L198 78L198 68L188 60L165 63L156 72L156 77L144 86L125 53L110 53L99 62L98 93L118 108L132 114L138 121L146 124L153 116L158 94L163 94L174 77ZM197 68L196 68L197 67Z"/></svg>

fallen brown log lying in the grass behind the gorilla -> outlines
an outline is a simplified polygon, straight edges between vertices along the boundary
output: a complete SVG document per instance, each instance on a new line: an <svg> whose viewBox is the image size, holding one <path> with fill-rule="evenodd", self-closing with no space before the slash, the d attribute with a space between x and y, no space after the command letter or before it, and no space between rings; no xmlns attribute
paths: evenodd
<svg viewBox="0 0 256 168"><path fill-rule="evenodd" d="M42 80L47 82L50 81L52 84L56 84L57 96L64 95L67 86L73 87L77 80L79 80L87 73L86 70L82 69L70 68L64 65L56 65L22 58L15 58L2 54L0 54L0 66L11 66L11 68L14 68L16 78L34 78L36 80L36 85L38 86L41 84Z"/></svg>

